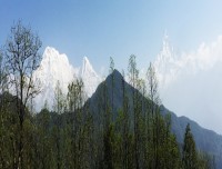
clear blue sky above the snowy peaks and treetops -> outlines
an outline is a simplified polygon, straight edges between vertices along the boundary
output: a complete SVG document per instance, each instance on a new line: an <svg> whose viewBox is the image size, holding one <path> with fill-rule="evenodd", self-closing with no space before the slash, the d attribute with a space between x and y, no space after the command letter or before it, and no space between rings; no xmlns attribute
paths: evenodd
<svg viewBox="0 0 222 169"><path fill-rule="evenodd" d="M43 47L67 53L73 66L87 56L97 71L113 57L119 69L130 54L147 67L161 49L164 30L179 50L192 51L222 33L222 1L195 0L0 0L0 44L19 19Z"/></svg>

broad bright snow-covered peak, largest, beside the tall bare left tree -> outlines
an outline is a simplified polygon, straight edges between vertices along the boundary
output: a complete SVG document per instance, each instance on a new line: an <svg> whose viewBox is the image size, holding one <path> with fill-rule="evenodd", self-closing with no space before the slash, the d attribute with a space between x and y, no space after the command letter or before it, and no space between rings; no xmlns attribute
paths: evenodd
<svg viewBox="0 0 222 169"><path fill-rule="evenodd" d="M65 54L59 53L52 47L47 47L40 67L34 71L34 77L41 84L41 93L34 98L37 111L44 106L44 102L48 102L49 108L52 109L57 82L60 81L62 91L67 93L67 86L74 73L75 70Z"/></svg>

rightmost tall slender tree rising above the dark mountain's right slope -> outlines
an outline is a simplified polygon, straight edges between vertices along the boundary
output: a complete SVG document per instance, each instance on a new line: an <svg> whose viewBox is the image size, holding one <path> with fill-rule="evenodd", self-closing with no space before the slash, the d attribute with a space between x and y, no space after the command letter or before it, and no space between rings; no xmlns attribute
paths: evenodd
<svg viewBox="0 0 222 169"><path fill-rule="evenodd" d="M152 63L150 63L147 71L147 81L148 81L148 115L145 116L147 123L147 135L148 135L148 146L149 156L148 161L151 168L159 168L161 163L159 160L159 149L160 149L160 131L161 131L161 115L160 115L160 99L158 93L158 80L155 77L155 70ZM151 136L151 137L150 137ZM148 153L148 152L147 152ZM153 158L152 158L153 156Z"/></svg>

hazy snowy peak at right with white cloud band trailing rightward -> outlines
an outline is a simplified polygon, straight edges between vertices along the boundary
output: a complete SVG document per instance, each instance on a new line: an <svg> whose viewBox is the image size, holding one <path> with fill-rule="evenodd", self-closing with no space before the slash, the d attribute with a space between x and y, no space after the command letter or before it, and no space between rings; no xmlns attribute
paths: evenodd
<svg viewBox="0 0 222 169"><path fill-rule="evenodd" d="M222 36L211 44L202 43L194 52L176 53L165 33L162 50L154 61L160 90L165 90L184 76L196 76L213 69L216 63L222 62L221 44Z"/></svg>

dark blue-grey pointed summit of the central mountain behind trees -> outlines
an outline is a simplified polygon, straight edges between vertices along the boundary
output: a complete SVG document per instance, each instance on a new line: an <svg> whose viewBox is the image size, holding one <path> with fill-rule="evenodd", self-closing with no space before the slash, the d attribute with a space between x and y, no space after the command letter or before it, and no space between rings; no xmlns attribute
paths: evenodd
<svg viewBox="0 0 222 169"><path fill-rule="evenodd" d="M112 86L113 80L113 86ZM123 106L123 89L125 93L128 95L129 100L129 113L132 117L132 95L133 90L137 90L132 88L125 80L124 77L114 69L112 73L110 73L104 81L102 81L95 92L92 95L92 97L88 100L88 103L90 105L91 111L95 115L95 119L100 118L98 117L98 112L102 112L105 110L103 109L105 106L111 107L112 106L112 92L113 92L113 117L117 117L118 111L122 109ZM140 95L140 99L142 96ZM141 100L142 101L142 100Z"/></svg>

